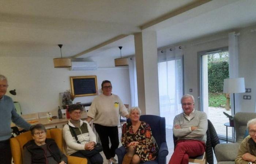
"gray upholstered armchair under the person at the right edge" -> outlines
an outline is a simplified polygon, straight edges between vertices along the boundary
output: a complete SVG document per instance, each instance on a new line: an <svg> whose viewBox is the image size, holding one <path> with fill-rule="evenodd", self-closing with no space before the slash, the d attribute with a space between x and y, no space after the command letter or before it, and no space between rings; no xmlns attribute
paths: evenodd
<svg viewBox="0 0 256 164"><path fill-rule="evenodd" d="M247 122L256 118L256 113L238 112L234 116L236 142L227 144L218 144L215 147L215 156L217 164L235 164L235 159L240 146L244 139Z"/></svg>

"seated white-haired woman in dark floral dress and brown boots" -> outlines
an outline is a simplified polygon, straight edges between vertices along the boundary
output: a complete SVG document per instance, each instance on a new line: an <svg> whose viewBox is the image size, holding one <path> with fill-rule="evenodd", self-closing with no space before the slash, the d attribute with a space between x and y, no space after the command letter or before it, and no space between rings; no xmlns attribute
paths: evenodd
<svg viewBox="0 0 256 164"><path fill-rule="evenodd" d="M123 125L122 144L127 149L123 164L139 164L157 158L158 146L153 139L147 122L140 121L141 110L133 107L128 110L131 122Z"/></svg>

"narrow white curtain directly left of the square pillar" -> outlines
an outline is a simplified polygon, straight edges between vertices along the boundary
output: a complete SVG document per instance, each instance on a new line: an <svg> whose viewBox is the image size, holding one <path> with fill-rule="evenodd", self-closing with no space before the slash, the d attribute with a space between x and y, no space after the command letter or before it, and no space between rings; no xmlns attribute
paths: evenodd
<svg viewBox="0 0 256 164"><path fill-rule="evenodd" d="M135 56L129 58L129 79L131 90L131 104L132 106L138 106L138 90L137 90L137 73L136 73L136 60Z"/></svg>

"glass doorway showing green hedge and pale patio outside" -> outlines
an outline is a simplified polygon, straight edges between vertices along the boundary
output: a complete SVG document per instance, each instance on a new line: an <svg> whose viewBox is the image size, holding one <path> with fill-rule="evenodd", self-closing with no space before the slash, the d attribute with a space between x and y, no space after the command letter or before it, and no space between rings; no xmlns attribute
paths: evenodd
<svg viewBox="0 0 256 164"><path fill-rule="evenodd" d="M199 108L207 114L208 119L220 139L234 140L233 128L224 125L229 119L223 112L231 115L228 110L226 97L223 93L223 81L229 78L229 51L228 47L198 52L199 63Z"/></svg>

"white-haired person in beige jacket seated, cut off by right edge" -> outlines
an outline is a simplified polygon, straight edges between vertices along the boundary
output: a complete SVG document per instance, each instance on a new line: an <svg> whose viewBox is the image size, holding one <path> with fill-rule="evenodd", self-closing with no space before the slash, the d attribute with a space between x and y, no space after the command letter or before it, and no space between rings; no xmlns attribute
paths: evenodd
<svg viewBox="0 0 256 164"><path fill-rule="evenodd" d="M249 136L241 142L236 164L256 164L256 118L247 122Z"/></svg>

